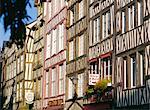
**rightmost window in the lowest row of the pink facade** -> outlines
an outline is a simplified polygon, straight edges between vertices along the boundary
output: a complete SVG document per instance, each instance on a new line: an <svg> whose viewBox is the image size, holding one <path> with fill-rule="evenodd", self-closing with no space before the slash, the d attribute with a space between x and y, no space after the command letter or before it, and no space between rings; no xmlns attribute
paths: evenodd
<svg viewBox="0 0 150 110"><path fill-rule="evenodd" d="M59 66L59 94L64 93L64 66Z"/></svg>

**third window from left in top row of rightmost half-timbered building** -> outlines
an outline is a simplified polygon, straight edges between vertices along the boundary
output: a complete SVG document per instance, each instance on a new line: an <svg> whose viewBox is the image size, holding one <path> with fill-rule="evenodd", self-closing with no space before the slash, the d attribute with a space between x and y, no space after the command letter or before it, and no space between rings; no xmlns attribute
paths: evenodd
<svg viewBox="0 0 150 110"><path fill-rule="evenodd" d="M137 16L138 16L137 17L138 18L138 26L140 26L143 22L143 6L142 6L142 1L141 0L138 0L137 7L138 7L138 9L137 9L137 12L138 12L138 14L137 14Z"/></svg>

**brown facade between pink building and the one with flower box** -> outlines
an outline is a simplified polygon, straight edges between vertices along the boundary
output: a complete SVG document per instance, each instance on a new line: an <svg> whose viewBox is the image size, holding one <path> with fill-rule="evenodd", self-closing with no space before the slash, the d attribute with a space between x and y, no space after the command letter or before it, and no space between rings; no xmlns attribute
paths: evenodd
<svg viewBox="0 0 150 110"><path fill-rule="evenodd" d="M66 104L70 110L83 108L83 94L87 84L87 0L68 0ZM73 80L77 82L74 83ZM77 97L76 97L77 96ZM76 97L77 103L73 103Z"/></svg>

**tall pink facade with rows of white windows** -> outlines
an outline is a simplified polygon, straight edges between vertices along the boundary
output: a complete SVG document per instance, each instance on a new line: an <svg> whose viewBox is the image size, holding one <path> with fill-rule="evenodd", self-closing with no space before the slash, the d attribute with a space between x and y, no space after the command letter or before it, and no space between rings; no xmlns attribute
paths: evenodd
<svg viewBox="0 0 150 110"><path fill-rule="evenodd" d="M45 42L43 109L64 109L66 75L65 0L48 0L44 7Z"/></svg>

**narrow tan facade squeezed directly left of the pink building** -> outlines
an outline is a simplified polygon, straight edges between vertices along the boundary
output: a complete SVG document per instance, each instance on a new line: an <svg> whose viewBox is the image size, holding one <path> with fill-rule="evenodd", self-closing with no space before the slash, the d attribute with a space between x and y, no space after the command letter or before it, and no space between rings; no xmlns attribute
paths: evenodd
<svg viewBox="0 0 150 110"><path fill-rule="evenodd" d="M34 91L34 110L42 109L42 86L43 84L43 67L44 67L44 5L45 3L35 1L38 17L34 28L33 44L33 91Z"/></svg>

